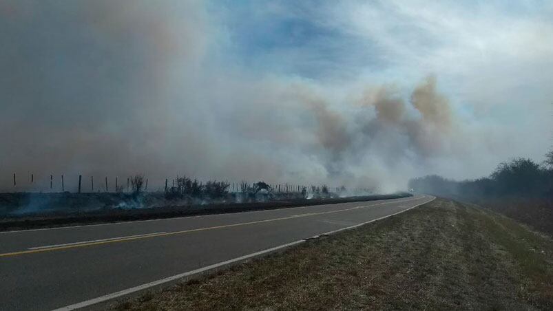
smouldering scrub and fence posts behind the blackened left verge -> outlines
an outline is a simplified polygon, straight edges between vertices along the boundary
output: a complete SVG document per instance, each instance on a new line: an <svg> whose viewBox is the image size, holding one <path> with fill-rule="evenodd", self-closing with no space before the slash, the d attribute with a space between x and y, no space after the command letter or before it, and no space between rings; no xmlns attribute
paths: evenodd
<svg viewBox="0 0 553 311"><path fill-rule="evenodd" d="M31 180L34 174L31 174ZM242 204L255 202L282 202L298 200L326 200L342 197L375 195L376 189L346 189L345 186L331 189L325 184L300 185L300 184L267 184L266 182L227 182L220 180L200 181L186 176L169 180L165 179L162 189L152 191L152 184L148 189L148 178L143 174L132 175L127 178L126 187L118 183L116 177L114 183L105 177L105 188L94 188L94 177L90 184L83 183L83 175L79 175L79 183L76 191L65 191L63 186L54 186L50 179L50 189L43 192L44 184L31 182L21 185L34 187L34 191L14 191L0 193L0 220L17 217L18 215L40 215L52 213L88 213L105 209L131 209L131 208L158 208L164 206L199 206L208 204ZM50 175L52 178L52 175ZM17 183L14 174L14 190ZM111 178L113 181L113 178ZM159 181L158 181L159 182ZM155 184L155 183L154 183ZM159 185L159 183L158 183ZM113 186L113 187L112 187ZM61 192L57 190L62 189Z"/></svg>

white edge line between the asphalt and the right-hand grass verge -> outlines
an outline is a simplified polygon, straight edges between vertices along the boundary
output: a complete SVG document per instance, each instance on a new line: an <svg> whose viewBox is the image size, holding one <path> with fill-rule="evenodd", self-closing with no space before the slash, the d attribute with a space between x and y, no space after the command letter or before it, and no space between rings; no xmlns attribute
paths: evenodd
<svg viewBox="0 0 553 311"><path fill-rule="evenodd" d="M354 226L348 226L346 228L341 228L341 229L338 229L338 230L333 230L333 231L328 231L327 233L321 233L320 235L315 235L311 238L308 238L308 239L313 239L313 238L317 238L317 237L320 237L321 235L332 235L334 233L339 233L340 231L344 231L344 230L349 230L349 229L353 229L353 228L357 228L359 226L363 226L365 224L370 224L371 222L376 222L377 220L381 220L381 219L384 219L384 218L388 218L388 217L391 217L393 215L397 215L397 214L400 214L400 213L404 213L406 211L409 211L410 209L413 209L417 206L421 206L423 204L426 204L426 203L429 203L429 202L432 202L433 200L435 200L436 197L432 197L432 199L424 202L424 203L421 203L421 204L417 204L413 207L410 207L410 208L407 208L407 209L404 209L402 211L399 211L397 213L393 213L393 214L390 214L390 215L386 215L386 216L383 216L383 217L379 217L377 219L373 219L373 220L370 220L368 222L363 222L361 224L356 224ZM180 273L178 275L173 275L172 277L166 277L165 279L160 279L158 281L153 281L153 282L150 282L150 283L145 283L143 285L139 285L139 286L135 286L133 288L127 288L126 290L121 290L119 292L114 292L112 294L107 294L107 295L104 295L104 296L101 296L101 297L96 297L94 299L90 299L90 300L87 300L87 301L82 301L82 302L79 302L79 303L74 303L72 305L67 305L65 307L62 307L62 308L59 308L59 309L55 309L53 311L62 311L62 310L75 310L75 309L79 309L79 308L85 308L85 307L88 307L90 305L94 305L96 303L101 303L101 302L104 302L104 301L108 301L108 300L111 300L111 299L115 299L115 298L118 298L118 297L121 297L121 296L125 296L126 294L132 294L133 292L138 292L140 290L146 290L147 288L152 288L154 286L158 286L158 285L161 285L163 283L167 283L167 282L170 282L170 281L176 281L177 279L182 279L183 277L189 277L191 275L197 275L199 273L202 273L202 272L207 272L209 270L212 270L212 269L216 269L216 268L220 268L221 266L227 266L229 264L233 264L233 263L236 263L238 261L242 261L244 259L249 259L249 258L252 258L252 257L257 257L257 256L260 256L260 255L264 255L264 254L267 254L267 253L272 253L274 252L275 250L280 250L282 248L287 248L287 247L290 247L290 246L295 246L297 244L301 244L301 243L304 243L306 241L306 239L300 239L298 241L295 241L295 242L291 242L291 243L288 243L288 244L282 244L282 245L279 245L279 246L275 246L273 248L268 248L266 250L261 250L257 253L251 253L251 254L248 254L248 255L244 255L244 256L240 256L240 257L236 257L236 258L233 258L233 259L229 259L227 261L222 261L218 264L212 264L210 266L205 266L203 268L199 268L199 269L196 269L196 270L191 270L191 271L188 271L188 272L184 272L184 273Z"/></svg>

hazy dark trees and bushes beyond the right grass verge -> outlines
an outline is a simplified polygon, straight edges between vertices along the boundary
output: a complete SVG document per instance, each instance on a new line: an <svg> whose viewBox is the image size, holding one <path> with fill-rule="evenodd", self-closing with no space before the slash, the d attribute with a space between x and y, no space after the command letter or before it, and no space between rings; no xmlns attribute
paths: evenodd
<svg viewBox="0 0 553 311"><path fill-rule="evenodd" d="M516 158L499 164L486 178L447 180L438 175L410 180L421 193L492 208L537 230L553 234L553 150L543 164Z"/></svg>

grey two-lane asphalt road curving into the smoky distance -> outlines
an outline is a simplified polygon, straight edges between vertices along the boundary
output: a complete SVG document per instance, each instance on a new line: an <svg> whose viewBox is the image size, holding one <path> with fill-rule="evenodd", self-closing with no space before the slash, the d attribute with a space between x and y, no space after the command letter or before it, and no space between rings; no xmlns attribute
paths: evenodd
<svg viewBox="0 0 553 311"><path fill-rule="evenodd" d="M0 233L0 310L88 301L427 202L418 195Z"/></svg>

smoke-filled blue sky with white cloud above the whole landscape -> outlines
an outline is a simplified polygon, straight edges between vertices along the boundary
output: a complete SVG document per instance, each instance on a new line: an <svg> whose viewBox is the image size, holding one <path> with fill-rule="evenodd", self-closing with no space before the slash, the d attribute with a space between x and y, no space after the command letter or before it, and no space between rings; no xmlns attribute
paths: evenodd
<svg viewBox="0 0 553 311"><path fill-rule="evenodd" d="M0 191L143 173L390 192L541 162L552 17L551 1L0 0Z"/></svg>

